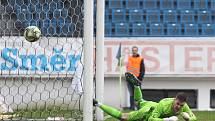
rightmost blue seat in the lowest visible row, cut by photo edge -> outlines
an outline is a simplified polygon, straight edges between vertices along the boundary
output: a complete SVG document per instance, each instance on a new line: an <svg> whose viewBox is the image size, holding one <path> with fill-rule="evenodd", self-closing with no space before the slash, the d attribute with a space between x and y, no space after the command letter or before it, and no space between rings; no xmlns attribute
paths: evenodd
<svg viewBox="0 0 215 121"><path fill-rule="evenodd" d="M215 25L214 24L202 24L202 35L203 36L215 36Z"/></svg>

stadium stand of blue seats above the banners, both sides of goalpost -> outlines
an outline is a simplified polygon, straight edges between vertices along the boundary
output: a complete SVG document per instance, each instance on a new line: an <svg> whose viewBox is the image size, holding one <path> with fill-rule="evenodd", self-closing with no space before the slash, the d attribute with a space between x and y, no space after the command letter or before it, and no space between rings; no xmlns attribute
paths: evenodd
<svg viewBox="0 0 215 121"><path fill-rule="evenodd" d="M45 36L70 36L75 33L73 24L80 18L71 20L71 17L66 17L79 14L68 7L67 4L72 3L28 1L8 0L1 4L0 9L8 12L2 17L2 23L6 24L8 18L13 18L8 22L16 23L10 26L13 32L3 32L2 24L0 33L17 35L29 25L39 26ZM105 4L105 36L108 37L215 35L215 0L106 0ZM159 28L156 29L157 25ZM198 30L193 31L193 28Z"/></svg>

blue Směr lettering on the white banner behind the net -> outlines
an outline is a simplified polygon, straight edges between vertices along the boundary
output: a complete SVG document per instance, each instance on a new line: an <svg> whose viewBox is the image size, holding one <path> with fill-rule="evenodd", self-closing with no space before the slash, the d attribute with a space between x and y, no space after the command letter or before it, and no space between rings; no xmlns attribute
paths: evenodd
<svg viewBox="0 0 215 121"><path fill-rule="evenodd" d="M4 62L0 64L0 70L15 71L30 70L30 71L75 71L77 62L80 61L81 55L62 55L63 49L54 50L54 55L47 57L45 54L40 55L22 55L18 49L4 48L1 52L1 58ZM30 64L29 64L30 63Z"/></svg>

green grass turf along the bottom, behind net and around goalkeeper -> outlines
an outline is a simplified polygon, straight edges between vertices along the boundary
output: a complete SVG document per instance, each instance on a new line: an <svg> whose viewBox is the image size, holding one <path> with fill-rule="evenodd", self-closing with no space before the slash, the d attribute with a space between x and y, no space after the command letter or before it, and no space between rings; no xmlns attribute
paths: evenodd
<svg viewBox="0 0 215 121"><path fill-rule="evenodd" d="M126 111L127 112L127 111ZM82 120L83 115L79 110L31 110L17 111L15 114L20 115L21 119L47 119L48 117L64 117L67 120ZM194 111L198 121L215 121L215 111ZM105 121L118 121L110 116L105 115ZM179 116L179 121L184 121Z"/></svg>

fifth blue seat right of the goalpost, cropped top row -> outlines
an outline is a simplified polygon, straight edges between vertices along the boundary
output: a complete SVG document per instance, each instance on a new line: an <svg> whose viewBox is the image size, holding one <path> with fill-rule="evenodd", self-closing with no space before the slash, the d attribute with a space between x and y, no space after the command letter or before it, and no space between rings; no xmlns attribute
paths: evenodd
<svg viewBox="0 0 215 121"><path fill-rule="evenodd" d="M177 0L178 9L192 9L192 0Z"/></svg>

